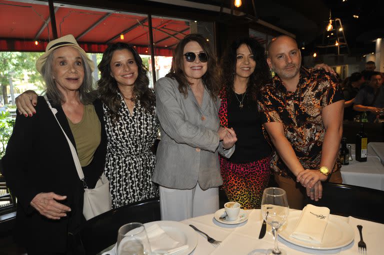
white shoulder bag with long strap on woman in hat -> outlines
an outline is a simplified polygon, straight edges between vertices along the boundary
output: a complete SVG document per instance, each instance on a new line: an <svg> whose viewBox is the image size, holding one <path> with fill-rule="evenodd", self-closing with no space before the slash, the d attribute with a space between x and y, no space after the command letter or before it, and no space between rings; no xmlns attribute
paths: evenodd
<svg viewBox="0 0 384 255"><path fill-rule="evenodd" d="M53 113L54 118L56 119L58 125L60 126L64 136L69 144L70 151L72 153L74 165L76 166L78 177L80 178L83 186L84 186L84 204L82 208L82 214L84 215L86 220L89 220L99 214L105 213L111 208L111 198L109 195L109 181L105 177L104 174L100 176L98 179L96 186L94 189L88 189L84 180L84 173L82 172L80 161L78 159L76 149L73 144L69 140L68 136L65 134L62 129L60 123L57 120L56 113L57 110L52 108L50 105L46 95L44 95L45 101L48 104L50 110Z"/></svg>

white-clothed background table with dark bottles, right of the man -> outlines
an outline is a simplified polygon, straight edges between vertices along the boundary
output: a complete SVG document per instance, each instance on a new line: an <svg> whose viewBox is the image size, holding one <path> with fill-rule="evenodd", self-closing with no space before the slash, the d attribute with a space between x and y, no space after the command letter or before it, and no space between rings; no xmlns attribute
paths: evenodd
<svg viewBox="0 0 384 255"><path fill-rule="evenodd" d="M341 166L342 183L366 187L376 190L384 190L384 165L380 157L371 149L368 143L368 155L366 162L358 162L355 158L355 145L351 144L352 161L349 165ZM384 143L378 143L379 146ZM373 146L376 148L377 144Z"/></svg>

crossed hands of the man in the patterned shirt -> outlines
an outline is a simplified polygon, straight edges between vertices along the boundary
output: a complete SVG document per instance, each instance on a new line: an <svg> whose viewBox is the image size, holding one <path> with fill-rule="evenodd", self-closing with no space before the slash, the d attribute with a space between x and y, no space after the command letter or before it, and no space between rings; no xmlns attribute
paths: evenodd
<svg viewBox="0 0 384 255"><path fill-rule="evenodd" d="M305 169L296 176L296 181L306 189L306 195L311 200L318 201L322 196L321 182L326 181L326 176L318 170Z"/></svg>

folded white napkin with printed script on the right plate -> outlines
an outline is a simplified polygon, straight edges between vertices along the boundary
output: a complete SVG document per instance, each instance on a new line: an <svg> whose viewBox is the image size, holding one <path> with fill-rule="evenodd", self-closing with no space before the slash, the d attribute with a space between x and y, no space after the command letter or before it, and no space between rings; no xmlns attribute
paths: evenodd
<svg viewBox="0 0 384 255"><path fill-rule="evenodd" d="M290 236L308 243L321 244L328 218L328 208L306 205Z"/></svg>

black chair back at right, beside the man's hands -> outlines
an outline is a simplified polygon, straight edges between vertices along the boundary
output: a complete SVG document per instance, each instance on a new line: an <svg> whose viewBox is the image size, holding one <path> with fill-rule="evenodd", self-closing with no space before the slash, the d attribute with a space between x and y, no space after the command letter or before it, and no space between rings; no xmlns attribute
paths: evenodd
<svg viewBox="0 0 384 255"><path fill-rule="evenodd" d="M331 214L384 223L384 191L346 184L323 183L322 198L306 204L329 208Z"/></svg>

